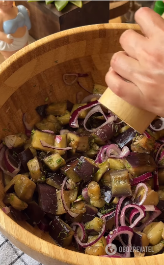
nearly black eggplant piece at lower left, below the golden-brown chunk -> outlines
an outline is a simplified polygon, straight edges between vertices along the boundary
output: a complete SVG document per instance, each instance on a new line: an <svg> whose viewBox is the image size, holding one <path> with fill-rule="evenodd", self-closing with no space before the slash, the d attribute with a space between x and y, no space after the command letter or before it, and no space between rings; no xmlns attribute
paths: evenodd
<svg viewBox="0 0 164 265"><path fill-rule="evenodd" d="M30 201L28 203L25 213L27 214L29 218L28 221L31 225L39 224L45 216L45 212L42 211L41 207L35 201Z"/></svg>

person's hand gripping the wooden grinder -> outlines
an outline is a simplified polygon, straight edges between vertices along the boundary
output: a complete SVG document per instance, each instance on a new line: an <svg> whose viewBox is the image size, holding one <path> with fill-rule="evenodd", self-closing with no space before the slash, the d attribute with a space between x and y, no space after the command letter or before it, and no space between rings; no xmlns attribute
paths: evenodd
<svg viewBox="0 0 164 265"><path fill-rule="evenodd" d="M106 83L130 104L164 117L164 20L147 7L135 20L145 36L133 30L121 35L125 52L113 55Z"/></svg>

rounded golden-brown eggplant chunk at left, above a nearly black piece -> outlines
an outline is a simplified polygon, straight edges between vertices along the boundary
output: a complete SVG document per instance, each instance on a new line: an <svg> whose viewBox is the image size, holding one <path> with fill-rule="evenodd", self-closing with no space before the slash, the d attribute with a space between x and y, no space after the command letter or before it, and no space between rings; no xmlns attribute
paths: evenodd
<svg viewBox="0 0 164 265"><path fill-rule="evenodd" d="M25 175L18 175L14 190L19 199L29 202L32 199L36 184Z"/></svg>

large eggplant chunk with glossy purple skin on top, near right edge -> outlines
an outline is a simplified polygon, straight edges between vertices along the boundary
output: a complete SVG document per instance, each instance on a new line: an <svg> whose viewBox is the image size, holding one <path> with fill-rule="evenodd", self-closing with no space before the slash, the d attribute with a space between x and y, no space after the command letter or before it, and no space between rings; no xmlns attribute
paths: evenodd
<svg viewBox="0 0 164 265"><path fill-rule="evenodd" d="M135 177L138 177L146 172L153 172L157 167L154 159L146 153L123 158L123 163L129 173Z"/></svg>

